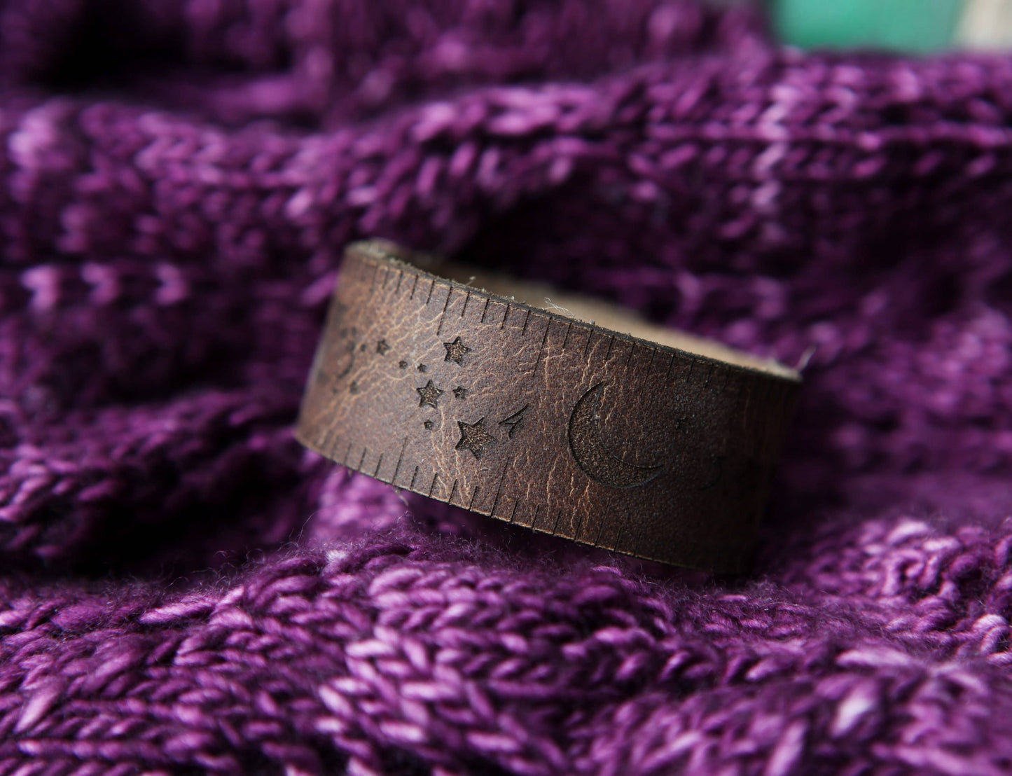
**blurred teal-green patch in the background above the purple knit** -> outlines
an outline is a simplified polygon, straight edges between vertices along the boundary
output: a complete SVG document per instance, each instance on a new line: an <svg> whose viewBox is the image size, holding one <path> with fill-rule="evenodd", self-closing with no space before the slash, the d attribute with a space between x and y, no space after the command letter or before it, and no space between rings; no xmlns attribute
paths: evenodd
<svg viewBox="0 0 1012 776"><path fill-rule="evenodd" d="M962 0L773 0L780 39L802 49L948 48Z"/></svg>

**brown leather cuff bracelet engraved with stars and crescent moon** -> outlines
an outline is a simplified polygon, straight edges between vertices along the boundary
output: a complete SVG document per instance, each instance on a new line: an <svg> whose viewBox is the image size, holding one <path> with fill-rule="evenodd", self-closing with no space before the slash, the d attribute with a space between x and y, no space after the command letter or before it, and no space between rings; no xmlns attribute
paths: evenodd
<svg viewBox="0 0 1012 776"><path fill-rule="evenodd" d="M419 266L433 261L381 241L347 248L305 445L536 531L747 569L795 371L600 303L553 294L541 309L537 289L493 293L468 271L459 282Z"/></svg>

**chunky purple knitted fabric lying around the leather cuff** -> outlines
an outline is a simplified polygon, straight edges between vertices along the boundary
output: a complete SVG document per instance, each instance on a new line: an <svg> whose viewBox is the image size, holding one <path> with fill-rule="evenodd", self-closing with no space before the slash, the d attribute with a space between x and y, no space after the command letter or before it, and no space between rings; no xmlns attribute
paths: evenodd
<svg viewBox="0 0 1012 776"><path fill-rule="evenodd" d="M0 1L0 774L1012 768L1012 60L689 0ZM755 574L291 424L342 246L805 385Z"/></svg>

